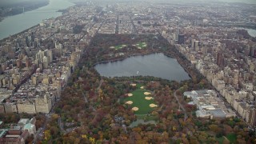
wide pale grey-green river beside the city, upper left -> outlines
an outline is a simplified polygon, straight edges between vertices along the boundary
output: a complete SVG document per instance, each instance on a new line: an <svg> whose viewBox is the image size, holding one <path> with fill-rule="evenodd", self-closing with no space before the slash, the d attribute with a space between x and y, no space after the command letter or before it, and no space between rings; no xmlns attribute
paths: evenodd
<svg viewBox="0 0 256 144"><path fill-rule="evenodd" d="M0 22L0 39L35 26L43 19L56 18L62 15L61 12L57 12L58 10L64 10L70 6L74 6L74 3L68 0L50 0L47 6L7 17Z"/></svg>

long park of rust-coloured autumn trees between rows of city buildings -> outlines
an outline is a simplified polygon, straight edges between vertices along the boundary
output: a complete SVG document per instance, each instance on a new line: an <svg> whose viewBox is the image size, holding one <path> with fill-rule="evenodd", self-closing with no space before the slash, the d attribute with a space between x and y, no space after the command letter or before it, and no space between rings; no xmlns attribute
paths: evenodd
<svg viewBox="0 0 256 144"><path fill-rule="evenodd" d="M133 63L118 67L130 70L121 76L118 73L105 76L96 70L98 65L106 65L103 67L106 70L109 65L122 65L116 62L135 56L145 59L149 54L175 58L190 77L174 80L148 74L149 70L161 71L154 69L157 64L142 64L142 69L148 67L146 72L133 67ZM158 55L151 57L158 58ZM190 98L183 97L183 92L205 89L212 89L206 78L161 35L97 34L82 52L82 60L54 108L56 114L46 126L44 142L254 142L254 133L239 118L196 117L197 107L188 104Z"/></svg>

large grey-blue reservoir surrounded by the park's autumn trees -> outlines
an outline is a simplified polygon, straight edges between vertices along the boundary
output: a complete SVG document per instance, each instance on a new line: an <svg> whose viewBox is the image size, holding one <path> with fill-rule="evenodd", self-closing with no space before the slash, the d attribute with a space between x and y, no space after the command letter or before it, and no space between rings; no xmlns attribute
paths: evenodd
<svg viewBox="0 0 256 144"><path fill-rule="evenodd" d="M102 76L110 78L142 75L178 82L190 79L176 59L169 58L161 53L134 56L117 62L100 63L94 68Z"/></svg>

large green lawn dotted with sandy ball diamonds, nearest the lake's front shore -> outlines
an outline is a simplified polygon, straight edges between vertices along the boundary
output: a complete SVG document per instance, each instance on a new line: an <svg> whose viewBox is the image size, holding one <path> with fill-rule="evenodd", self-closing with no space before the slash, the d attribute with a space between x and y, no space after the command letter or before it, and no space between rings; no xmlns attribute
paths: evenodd
<svg viewBox="0 0 256 144"><path fill-rule="evenodd" d="M145 97L150 97L151 95L145 95L144 92L149 92L148 90L141 90L142 85L137 85L138 90L134 90L131 94L133 96L125 98L125 102L132 101L132 107L138 107L137 111L134 111L134 114L149 114L154 108L150 107L151 103L154 103L154 99L146 100ZM127 105L127 104L126 104Z"/></svg>

